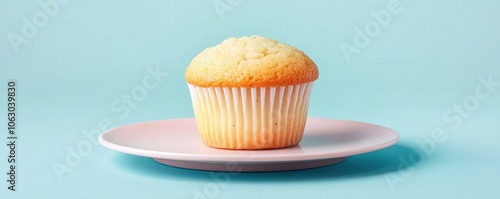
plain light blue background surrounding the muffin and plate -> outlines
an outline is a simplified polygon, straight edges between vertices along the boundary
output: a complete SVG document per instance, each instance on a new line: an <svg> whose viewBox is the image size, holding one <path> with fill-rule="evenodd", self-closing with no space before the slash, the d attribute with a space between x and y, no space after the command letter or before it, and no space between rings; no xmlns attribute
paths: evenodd
<svg viewBox="0 0 500 199"><path fill-rule="evenodd" d="M223 18L212 0L73 0L59 4L16 53L8 35L22 35L23 18L32 21L43 10L38 2L0 3L3 140L8 79L17 80L19 100L18 187L8 191L2 174L1 198L193 198L195 190L215 182L208 172L162 166L99 145L61 180L52 164L64 163L67 148L86 142L82 132L99 128L103 119L120 126L192 117L183 76L190 60L228 37L254 34L296 46L316 62L320 78L310 116L384 125L398 131L401 141L334 166L238 174L216 198L500 196L500 87L478 101L470 116L460 117L460 124L443 118L476 96L478 78L500 81L498 1L400 0L403 10L350 63L339 45L353 44L354 29L374 21L370 13L387 9L389 0L220 0L232 9ZM169 75L137 107L129 114L111 108L142 85L148 66L157 65ZM399 157L424 154L417 142L436 128L446 141L400 168ZM7 148L0 148L3 173ZM391 189L388 175L403 181Z"/></svg>

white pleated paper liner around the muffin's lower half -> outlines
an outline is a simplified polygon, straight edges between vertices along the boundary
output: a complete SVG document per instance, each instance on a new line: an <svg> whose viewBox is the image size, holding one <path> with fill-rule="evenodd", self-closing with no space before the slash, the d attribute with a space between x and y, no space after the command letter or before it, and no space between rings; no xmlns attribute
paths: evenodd
<svg viewBox="0 0 500 199"><path fill-rule="evenodd" d="M271 149L299 143L313 82L280 87L197 87L188 84L205 145Z"/></svg>

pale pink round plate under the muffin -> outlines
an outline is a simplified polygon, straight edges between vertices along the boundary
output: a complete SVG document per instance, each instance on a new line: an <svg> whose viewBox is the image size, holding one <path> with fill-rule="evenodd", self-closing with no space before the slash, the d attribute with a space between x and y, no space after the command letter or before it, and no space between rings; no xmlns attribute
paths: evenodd
<svg viewBox="0 0 500 199"><path fill-rule="evenodd" d="M299 145L274 150L222 150L203 145L194 118L143 122L110 129L99 142L110 149L181 168L262 172L315 168L348 156L394 145L398 134L386 127L308 118Z"/></svg>

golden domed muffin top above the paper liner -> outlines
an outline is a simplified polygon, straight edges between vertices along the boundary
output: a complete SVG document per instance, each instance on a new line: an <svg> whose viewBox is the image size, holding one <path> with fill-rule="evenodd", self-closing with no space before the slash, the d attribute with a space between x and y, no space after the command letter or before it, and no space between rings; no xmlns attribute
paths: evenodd
<svg viewBox="0 0 500 199"><path fill-rule="evenodd" d="M251 36L205 49L191 61L185 77L200 87L273 87L312 82L318 68L295 47Z"/></svg>

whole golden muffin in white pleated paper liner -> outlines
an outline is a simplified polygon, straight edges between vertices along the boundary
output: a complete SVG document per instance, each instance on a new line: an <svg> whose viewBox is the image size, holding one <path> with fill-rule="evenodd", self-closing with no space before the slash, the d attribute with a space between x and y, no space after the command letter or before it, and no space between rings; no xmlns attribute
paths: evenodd
<svg viewBox="0 0 500 199"><path fill-rule="evenodd" d="M189 64L185 78L200 137L221 149L276 149L302 139L316 64L260 37L229 38Z"/></svg>

